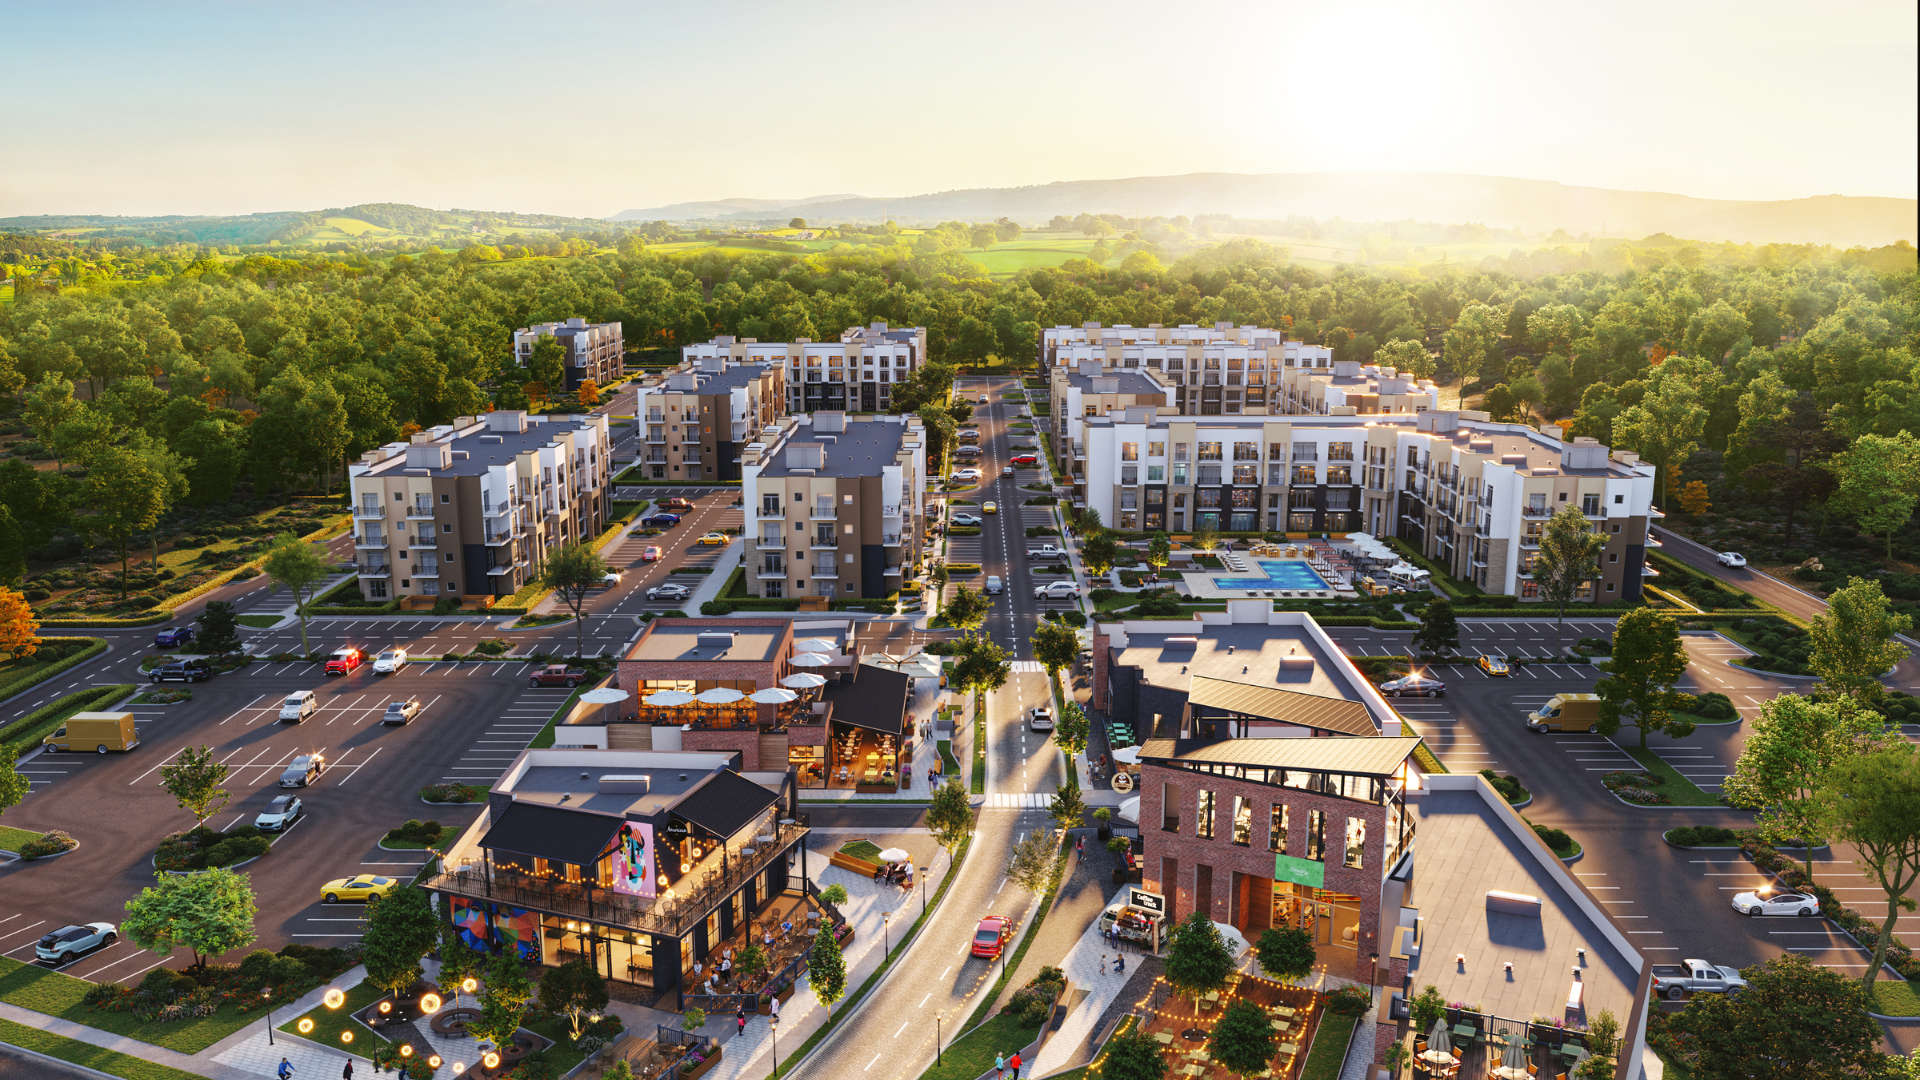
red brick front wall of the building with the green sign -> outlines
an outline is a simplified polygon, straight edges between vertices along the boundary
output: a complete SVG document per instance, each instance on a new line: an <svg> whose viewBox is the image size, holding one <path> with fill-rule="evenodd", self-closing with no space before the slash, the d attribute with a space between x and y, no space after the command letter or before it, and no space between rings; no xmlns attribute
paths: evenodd
<svg viewBox="0 0 1920 1080"><path fill-rule="evenodd" d="M1162 784L1181 788L1181 830L1162 830ZM1213 838L1196 836L1194 813L1200 790L1213 792ZM1254 803L1254 832L1250 844L1233 844L1233 798L1244 796ZM1369 953L1380 951L1380 880L1386 867L1380 865L1386 851L1386 807L1356 803L1296 788L1269 788L1248 780L1213 776L1208 773L1187 773L1181 769L1140 767L1140 840L1144 844L1142 886L1167 897L1167 915L1173 920L1185 919L1196 903L1196 871L1206 865L1213 871L1212 911L1215 922L1231 922L1233 874L1273 878L1273 851L1267 849L1269 813L1273 803L1288 807L1286 853L1306 857L1308 849L1308 811L1327 813L1327 888L1359 897L1359 926L1356 961L1352 972L1332 969L1346 978L1369 978ZM1363 849L1363 869L1342 865L1340 851L1346 840L1346 819L1367 821L1367 844ZM1179 861L1179 880L1160 880L1162 857ZM1246 919L1242 919L1246 922ZM1327 947L1323 957L1336 959L1340 947Z"/></svg>

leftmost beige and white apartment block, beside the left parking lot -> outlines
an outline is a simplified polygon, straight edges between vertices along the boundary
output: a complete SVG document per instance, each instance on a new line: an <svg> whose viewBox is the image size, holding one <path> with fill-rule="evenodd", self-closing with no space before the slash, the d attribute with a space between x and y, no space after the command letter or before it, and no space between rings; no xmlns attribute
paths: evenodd
<svg viewBox="0 0 1920 1080"><path fill-rule="evenodd" d="M459 417L348 469L361 594L513 596L607 527L607 417Z"/></svg>

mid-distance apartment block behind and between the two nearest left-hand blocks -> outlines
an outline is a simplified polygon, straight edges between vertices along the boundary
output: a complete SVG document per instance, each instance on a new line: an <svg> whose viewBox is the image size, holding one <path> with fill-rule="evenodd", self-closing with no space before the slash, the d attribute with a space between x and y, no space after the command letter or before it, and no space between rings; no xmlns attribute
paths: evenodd
<svg viewBox="0 0 1920 1080"><path fill-rule="evenodd" d="M639 465L655 480L737 480L739 452L787 413L787 373L778 363L708 356L643 386Z"/></svg>

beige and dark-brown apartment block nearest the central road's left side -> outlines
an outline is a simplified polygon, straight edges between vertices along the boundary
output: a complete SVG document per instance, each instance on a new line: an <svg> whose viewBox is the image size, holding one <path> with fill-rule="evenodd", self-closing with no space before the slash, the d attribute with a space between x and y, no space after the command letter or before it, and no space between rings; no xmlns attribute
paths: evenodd
<svg viewBox="0 0 1920 1080"><path fill-rule="evenodd" d="M741 457L747 592L885 598L920 563L927 448L918 417L822 409Z"/></svg>

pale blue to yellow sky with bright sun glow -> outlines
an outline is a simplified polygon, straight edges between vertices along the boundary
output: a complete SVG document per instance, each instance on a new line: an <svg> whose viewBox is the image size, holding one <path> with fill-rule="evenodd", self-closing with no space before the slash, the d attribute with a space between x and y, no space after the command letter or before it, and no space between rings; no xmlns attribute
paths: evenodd
<svg viewBox="0 0 1920 1080"><path fill-rule="evenodd" d="M1912 0L0 0L0 217L1428 171L1914 198Z"/></svg>

